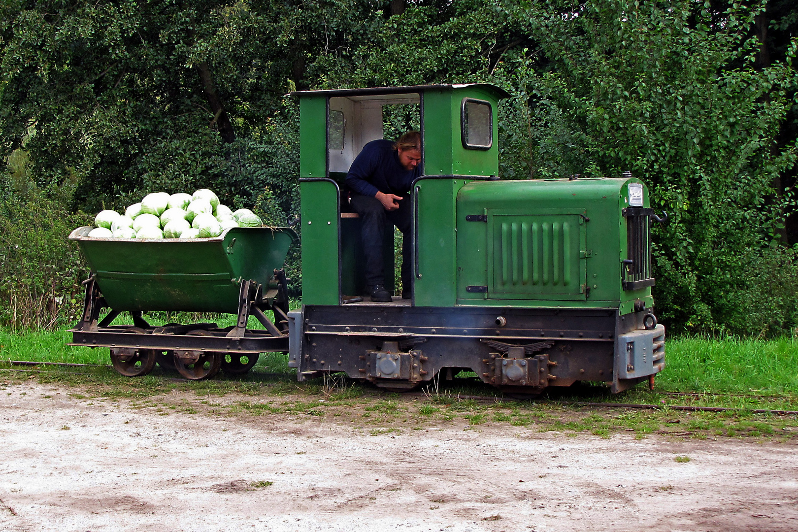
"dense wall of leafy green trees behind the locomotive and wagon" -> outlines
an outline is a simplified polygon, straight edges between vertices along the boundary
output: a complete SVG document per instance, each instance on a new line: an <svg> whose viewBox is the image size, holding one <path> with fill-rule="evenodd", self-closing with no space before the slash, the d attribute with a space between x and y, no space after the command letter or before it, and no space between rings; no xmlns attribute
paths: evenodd
<svg viewBox="0 0 798 532"><path fill-rule="evenodd" d="M796 30L789 0L9 1L0 156L73 210L211 187L286 223L286 92L494 82L505 179L630 170L672 214L668 325L775 333L798 321Z"/></svg>

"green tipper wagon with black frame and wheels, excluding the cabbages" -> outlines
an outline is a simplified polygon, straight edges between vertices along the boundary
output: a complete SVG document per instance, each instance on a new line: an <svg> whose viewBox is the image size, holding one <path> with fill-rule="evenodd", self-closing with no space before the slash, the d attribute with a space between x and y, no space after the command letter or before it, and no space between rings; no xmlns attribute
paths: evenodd
<svg viewBox="0 0 798 532"><path fill-rule="evenodd" d="M188 379L247 372L259 353L288 350L286 253L288 228L234 227L217 238L132 240L69 235L92 274L71 345L108 347L123 375L145 375L156 362ZM110 312L100 319L101 310ZM144 311L234 313L235 325L149 325ZM265 312L274 314L270 321ZM123 312L132 325L110 325ZM265 329L247 329L252 315Z"/></svg>

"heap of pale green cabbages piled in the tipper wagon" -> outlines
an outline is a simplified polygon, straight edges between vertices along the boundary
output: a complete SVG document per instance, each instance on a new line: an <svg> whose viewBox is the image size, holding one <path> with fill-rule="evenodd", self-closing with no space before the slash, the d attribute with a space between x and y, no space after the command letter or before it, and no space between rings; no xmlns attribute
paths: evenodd
<svg viewBox="0 0 798 532"><path fill-rule="evenodd" d="M207 188L193 195L154 192L120 215L102 211L94 219L93 238L214 238L231 227L261 227L249 209L231 211Z"/></svg>

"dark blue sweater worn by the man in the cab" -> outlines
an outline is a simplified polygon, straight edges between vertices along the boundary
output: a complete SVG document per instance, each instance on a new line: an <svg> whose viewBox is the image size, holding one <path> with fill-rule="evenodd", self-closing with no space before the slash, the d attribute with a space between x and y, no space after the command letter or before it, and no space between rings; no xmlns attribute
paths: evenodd
<svg viewBox="0 0 798 532"><path fill-rule="evenodd" d="M346 184L361 195L407 195L413 180L421 172L419 167L405 170L399 163L399 154L390 140L372 140L355 157L346 174Z"/></svg>

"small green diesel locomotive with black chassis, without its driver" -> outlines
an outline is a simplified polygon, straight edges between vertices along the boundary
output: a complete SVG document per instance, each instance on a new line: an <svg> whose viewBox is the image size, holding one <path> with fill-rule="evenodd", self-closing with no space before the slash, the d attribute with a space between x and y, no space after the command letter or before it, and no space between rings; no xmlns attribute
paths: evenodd
<svg viewBox="0 0 798 532"><path fill-rule="evenodd" d="M302 309L289 317L298 379L345 372L407 390L476 372L506 392L578 380L620 392L665 365L654 317L646 186L631 175L503 181L486 84L294 93L300 103ZM383 136L384 106L417 109L412 299L364 293L346 171ZM389 235L390 238L392 234ZM393 248L385 261L393 283Z"/></svg>

